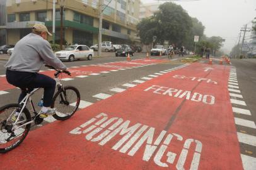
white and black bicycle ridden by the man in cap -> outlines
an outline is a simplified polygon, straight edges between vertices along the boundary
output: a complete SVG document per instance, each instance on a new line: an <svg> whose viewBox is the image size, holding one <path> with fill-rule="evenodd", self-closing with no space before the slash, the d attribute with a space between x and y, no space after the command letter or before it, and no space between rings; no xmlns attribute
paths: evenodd
<svg viewBox="0 0 256 170"><path fill-rule="evenodd" d="M56 108L56 113L52 116L56 120L67 120L78 110L80 93L74 86L63 86L61 84L59 76L62 73L71 76L70 72L59 71L50 65L45 66L56 71L54 77L57 92L54 94L52 105L50 106L51 108ZM43 122L44 118L40 118L31 98L38 89L40 88L26 89L26 96L20 103L13 103L0 108L0 153L5 153L18 147L28 135L33 122L35 125ZM72 98L73 96L74 98ZM26 108L28 103L31 105L33 116L30 115L30 111Z"/></svg>

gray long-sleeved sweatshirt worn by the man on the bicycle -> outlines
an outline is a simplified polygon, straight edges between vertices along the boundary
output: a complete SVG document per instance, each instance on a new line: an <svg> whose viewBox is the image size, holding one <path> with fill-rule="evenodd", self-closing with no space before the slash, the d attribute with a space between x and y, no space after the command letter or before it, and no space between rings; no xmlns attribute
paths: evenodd
<svg viewBox="0 0 256 170"><path fill-rule="evenodd" d="M30 33L16 43L13 54L4 67L11 71L38 72L44 64L61 70L67 68L55 57L47 40Z"/></svg>

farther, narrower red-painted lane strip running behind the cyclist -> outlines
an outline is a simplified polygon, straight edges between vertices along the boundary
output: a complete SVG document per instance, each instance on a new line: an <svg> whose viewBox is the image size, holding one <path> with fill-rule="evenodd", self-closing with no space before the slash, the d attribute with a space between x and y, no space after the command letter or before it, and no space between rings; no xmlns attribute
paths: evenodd
<svg viewBox="0 0 256 170"><path fill-rule="evenodd" d="M139 60L132 60L131 62L114 62L114 63L105 63L105 64L100 64L100 65L86 65L86 66L81 66L81 67L71 67L69 68L69 71L71 72L71 76L67 76L66 74L62 75L62 79L64 78L72 78L76 76L88 76L92 73L100 73L103 71L111 71L111 70L117 70L117 69L122 69L125 67L135 67L135 66L140 66L140 65L145 65L145 64L158 64L161 62L166 62L168 60L159 60L159 59L139 59ZM54 72L55 71L43 71L40 72L41 74L45 74L50 77L54 77ZM5 91L9 89L14 89L16 88L15 86L12 86L6 81L6 77L0 77L0 91Z"/></svg>

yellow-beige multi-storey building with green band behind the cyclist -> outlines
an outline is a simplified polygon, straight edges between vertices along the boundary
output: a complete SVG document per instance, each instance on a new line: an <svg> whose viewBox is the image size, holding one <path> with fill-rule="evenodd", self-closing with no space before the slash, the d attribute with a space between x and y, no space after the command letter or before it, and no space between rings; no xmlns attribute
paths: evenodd
<svg viewBox="0 0 256 170"><path fill-rule="evenodd" d="M7 40L15 44L35 23L52 31L53 0L7 0ZM136 41L140 0L104 0L102 40L113 43ZM98 43L99 0L64 0L64 38L67 44ZM55 4L55 42L60 40L60 1ZM49 37L51 41L52 37Z"/></svg>

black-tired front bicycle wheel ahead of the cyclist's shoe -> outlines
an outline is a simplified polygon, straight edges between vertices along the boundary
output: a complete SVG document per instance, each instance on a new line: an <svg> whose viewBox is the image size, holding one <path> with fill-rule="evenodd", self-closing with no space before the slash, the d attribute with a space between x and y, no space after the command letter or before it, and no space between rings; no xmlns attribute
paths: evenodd
<svg viewBox="0 0 256 170"><path fill-rule="evenodd" d="M73 91L74 94L76 94L75 98L74 99L67 98L67 101L63 101L62 98L64 96L64 91L66 92L66 95L67 95L68 91ZM57 100L57 99L59 99L59 100ZM57 106L57 104L59 104L60 106ZM51 108L55 107L56 113L52 116L54 116L54 118L57 120L67 120L71 116L73 116L74 113L76 113L76 110L78 110L79 104L80 104L80 93L79 93L78 89L73 86L65 86L64 90L59 89L59 91L57 91L57 93L54 94L54 98L52 99ZM66 113L66 111L63 111L64 108L67 108L68 106L73 107L73 111L71 113Z"/></svg>

